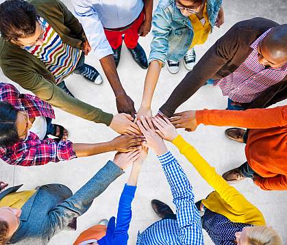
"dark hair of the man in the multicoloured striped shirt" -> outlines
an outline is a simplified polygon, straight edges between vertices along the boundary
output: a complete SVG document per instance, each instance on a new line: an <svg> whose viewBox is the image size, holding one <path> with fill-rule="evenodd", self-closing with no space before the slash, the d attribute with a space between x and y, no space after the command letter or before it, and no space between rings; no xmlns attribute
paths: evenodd
<svg viewBox="0 0 287 245"><path fill-rule="evenodd" d="M5 40L33 36L36 21L36 9L27 1L7 0L0 4L0 33Z"/></svg>

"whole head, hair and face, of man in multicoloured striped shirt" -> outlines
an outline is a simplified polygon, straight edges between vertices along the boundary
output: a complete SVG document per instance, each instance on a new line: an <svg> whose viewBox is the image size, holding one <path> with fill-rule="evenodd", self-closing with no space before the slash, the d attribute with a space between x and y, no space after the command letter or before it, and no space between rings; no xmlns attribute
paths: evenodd
<svg viewBox="0 0 287 245"><path fill-rule="evenodd" d="M0 4L0 33L5 40L21 47L43 43L44 30L36 9L23 0L8 0Z"/></svg>

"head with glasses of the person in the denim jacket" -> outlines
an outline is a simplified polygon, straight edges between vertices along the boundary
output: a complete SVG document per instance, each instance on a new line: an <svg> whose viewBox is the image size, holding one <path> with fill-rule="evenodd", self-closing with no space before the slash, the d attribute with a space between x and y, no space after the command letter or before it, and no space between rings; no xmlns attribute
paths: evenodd
<svg viewBox="0 0 287 245"><path fill-rule="evenodd" d="M204 3L205 0L175 0L176 7L184 16L199 13Z"/></svg>

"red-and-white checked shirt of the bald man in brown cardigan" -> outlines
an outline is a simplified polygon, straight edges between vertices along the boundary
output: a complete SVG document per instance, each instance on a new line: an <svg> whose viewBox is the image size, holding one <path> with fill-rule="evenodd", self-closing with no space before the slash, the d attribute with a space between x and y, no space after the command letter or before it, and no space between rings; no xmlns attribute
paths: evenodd
<svg viewBox="0 0 287 245"><path fill-rule="evenodd" d="M271 29L265 31L251 44L253 51L233 73L214 81L214 86L219 85L223 96L228 96L234 102L250 103L264 90L286 77L287 63L279 68L266 68L258 62L258 44Z"/></svg>

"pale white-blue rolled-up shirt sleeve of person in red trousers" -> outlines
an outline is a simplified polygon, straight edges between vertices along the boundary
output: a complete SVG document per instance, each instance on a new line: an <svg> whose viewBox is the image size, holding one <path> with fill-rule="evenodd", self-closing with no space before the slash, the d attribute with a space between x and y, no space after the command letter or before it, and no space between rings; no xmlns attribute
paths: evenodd
<svg viewBox="0 0 287 245"><path fill-rule="evenodd" d="M101 58L112 54L112 48L105 38L105 32L97 10L92 6L96 1L73 0L72 2L75 16L82 23L86 38L95 55L101 60Z"/></svg>

